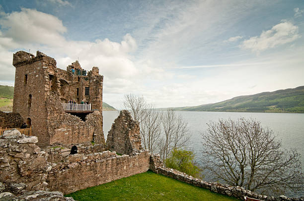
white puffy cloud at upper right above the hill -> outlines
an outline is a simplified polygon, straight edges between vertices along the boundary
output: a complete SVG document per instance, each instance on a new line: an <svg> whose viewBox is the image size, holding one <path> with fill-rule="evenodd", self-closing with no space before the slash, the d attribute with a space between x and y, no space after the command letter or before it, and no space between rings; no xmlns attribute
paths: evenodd
<svg viewBox="0 0 304 201"><path fill-rule="evenodd" d="M289 21L282 21L270 30L263 31L260 36L251 37L240 45L243 49L260 52L279 45L291 43L301 37L298 26Z"/></svg>

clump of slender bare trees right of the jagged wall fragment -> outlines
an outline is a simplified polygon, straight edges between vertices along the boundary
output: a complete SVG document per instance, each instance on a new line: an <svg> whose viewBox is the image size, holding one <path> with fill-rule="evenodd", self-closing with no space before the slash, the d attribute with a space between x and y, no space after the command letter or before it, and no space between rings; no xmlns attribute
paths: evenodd
<svg viewBox="0 0 304 201"><path fill-rule="evenodd" d="M131 110L135 120L140 122L142 144L151 152L159 152L163 159L173 149L185 148L190 140L187 122L172 109L157 111L143 96L128 94L123 105Z"/></svg>

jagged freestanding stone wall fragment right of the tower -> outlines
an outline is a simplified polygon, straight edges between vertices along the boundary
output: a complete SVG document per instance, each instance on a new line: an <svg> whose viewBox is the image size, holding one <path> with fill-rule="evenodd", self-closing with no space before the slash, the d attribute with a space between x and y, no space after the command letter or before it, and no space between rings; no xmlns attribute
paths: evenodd
<svg viewBox="0 0 304 201"><path fill-rule="evenodd" d="M130 154L142 149L139 122L132 119L129 111L120 111L107 137L108 150Z"/></svg>

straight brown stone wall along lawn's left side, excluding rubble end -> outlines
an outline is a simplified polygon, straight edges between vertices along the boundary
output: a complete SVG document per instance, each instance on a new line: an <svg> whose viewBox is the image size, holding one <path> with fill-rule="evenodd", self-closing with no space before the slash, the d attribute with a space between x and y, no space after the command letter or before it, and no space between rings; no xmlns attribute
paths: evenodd
<svg viewBox="0 0 304 201"><path fill-rule="evenodd" d="M52 191L69 194L148 171L150 153L140 151L117 155L115 151L69 155L63 162L52 163L47 183Z"/></svg>

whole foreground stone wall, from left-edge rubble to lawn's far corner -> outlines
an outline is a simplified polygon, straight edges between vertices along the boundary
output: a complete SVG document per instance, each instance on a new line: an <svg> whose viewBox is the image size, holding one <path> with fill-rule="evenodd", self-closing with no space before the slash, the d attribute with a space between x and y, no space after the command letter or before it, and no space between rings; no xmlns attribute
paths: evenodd
<svg viewBox="0 0 304 201"><path fill-rule="evenodd" d="M0 182L16 196L38 190L68 194L143 173L150 167L151 153L145 150L122 156L115 151L68 155L65 150L61 161L49 161L56 158L50 155L59 150L43 151L37 142L36 136L22 136L18 130L8 130L0 136ZM100 148L91 147L80 147L79 151Z"/></svg>

